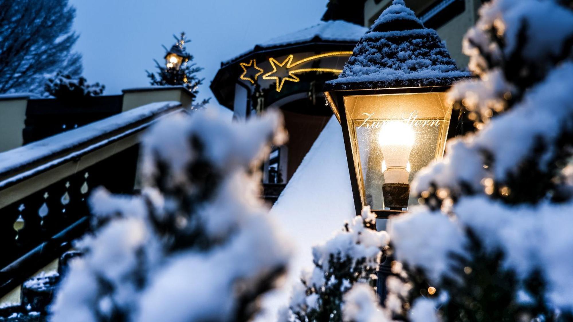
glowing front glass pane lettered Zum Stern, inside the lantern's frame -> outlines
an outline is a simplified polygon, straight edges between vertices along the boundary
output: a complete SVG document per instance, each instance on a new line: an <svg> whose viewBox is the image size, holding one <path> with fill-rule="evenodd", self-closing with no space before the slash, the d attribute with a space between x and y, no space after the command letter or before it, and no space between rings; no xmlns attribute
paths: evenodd
<svg viewBox="0 0 573 322"><path fill-rule="evenodd" d="M399 169L398 182L411 183L422 167L442 158L452 105L445 92L350 95L343 100L362 204L384 210L384 171ZM410 198L409 205L415 202Z"/></svg>

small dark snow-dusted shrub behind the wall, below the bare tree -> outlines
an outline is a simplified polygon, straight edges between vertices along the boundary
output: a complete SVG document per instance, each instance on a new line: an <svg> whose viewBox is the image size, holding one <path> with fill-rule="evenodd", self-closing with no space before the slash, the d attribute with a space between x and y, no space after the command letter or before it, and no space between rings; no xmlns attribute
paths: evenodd
<svg viewBox="0 0 573 322"><path fill-rule="evenodd" d="M48 78L44 89L56 99L79 100L88 96L100 96L104 92L105 85L88 84L84 77L74 78L69 74L58 72L56 76Z"/></svg>

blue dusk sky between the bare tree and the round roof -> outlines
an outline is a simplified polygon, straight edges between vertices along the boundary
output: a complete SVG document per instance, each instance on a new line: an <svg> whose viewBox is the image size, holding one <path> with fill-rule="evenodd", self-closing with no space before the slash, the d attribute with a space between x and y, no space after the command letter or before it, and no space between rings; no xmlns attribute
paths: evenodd
<svg viewBox="0 0 573 322"><path fill-rule="evenodd" d="M70 0L76 7L75 50L83 54L84 77L105 84L106 95L146 87L145 70L163 62L161 45L185 31L194 62L205 68L199 99L212 97L209 84L221 61L252 49L257 42L320 21L327 0ZM212 103L216 100L211 99Z"/></svg>

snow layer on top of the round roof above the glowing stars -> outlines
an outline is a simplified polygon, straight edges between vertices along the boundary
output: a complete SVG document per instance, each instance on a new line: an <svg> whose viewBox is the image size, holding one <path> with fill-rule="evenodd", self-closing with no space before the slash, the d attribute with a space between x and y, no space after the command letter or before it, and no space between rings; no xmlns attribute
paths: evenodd
<svg viewBox="0 0 573 322"><path fill-rule="evenodd" d="M316 25L299 30L297 32L274 37L268 41L254 46L253 50L242 53L233 59L223 62L230 64L237 58L244 57L258 50L276 48L280 46L302 44L309 41L322 42L358 42L368 28L343 20L321 21Z"/></svg>

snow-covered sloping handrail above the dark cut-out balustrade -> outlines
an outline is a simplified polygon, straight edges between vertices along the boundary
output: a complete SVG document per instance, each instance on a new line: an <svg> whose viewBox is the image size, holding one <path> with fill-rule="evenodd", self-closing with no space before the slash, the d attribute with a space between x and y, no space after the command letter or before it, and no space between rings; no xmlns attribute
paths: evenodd
<svg viewBox="0 0 573 322"><path fill-rule="evenodd" d="M143 105L106 119L0 153L0 189L140 131L156 117L178 111L177 101Z"/></svg>

